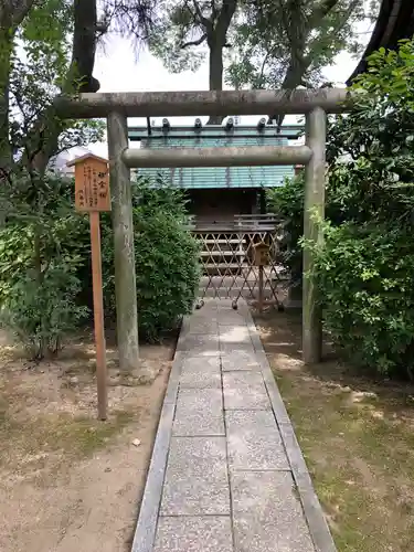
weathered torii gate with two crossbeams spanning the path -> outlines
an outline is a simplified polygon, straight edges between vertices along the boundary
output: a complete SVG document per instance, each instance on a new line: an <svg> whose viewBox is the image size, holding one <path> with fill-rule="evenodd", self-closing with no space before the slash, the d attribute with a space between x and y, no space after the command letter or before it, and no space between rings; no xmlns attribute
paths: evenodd
<svg viewBox="0 0 414 552"><path fill-rule="evenodd" d="M322 241L319 225L311 217L325 214L326 115L350 109L344 88L317 91L224 91L224 92L144 92L81 94L78 98L60 97L56 113L61 118L106 118L109 149L110 190L113 195L115 290L120 370L138 367L138 314L134 253L131 168L229 167L305 164L306 240ZM172 117L202 115L305 114L306 145L251 146L223 148L130 149L128 117ZM317 288L307 273L314 259L304 251L302 358L305 363L321 357L321 312Z"/></svg>

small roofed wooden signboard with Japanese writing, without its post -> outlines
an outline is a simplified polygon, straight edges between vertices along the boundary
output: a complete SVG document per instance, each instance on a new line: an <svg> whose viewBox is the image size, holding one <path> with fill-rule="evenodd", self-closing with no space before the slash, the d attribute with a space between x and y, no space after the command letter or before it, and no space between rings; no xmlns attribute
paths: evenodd
<svg viewBox="0 0 414 552"><path fill-rule="evenodd" d="M110 211L108 161L88 153L67 167L75 167L75 208L83 212Z"/></svg>

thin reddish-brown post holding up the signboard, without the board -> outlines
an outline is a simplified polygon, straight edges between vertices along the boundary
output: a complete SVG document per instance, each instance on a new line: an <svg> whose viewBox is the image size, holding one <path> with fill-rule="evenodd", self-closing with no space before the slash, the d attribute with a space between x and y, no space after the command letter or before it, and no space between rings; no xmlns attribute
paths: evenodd
<svg viewBox="0 0 414 552"><path fill-rule="evenodd" d="M104 297L102 282L100 229L99 212L89 213L91 250L92 250L92 284L94 293L94 328L96 347L96 381L98 389L98 418L106 420L108 402L106 382L106 344L104 326Z"/></svg>

